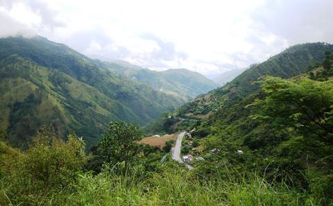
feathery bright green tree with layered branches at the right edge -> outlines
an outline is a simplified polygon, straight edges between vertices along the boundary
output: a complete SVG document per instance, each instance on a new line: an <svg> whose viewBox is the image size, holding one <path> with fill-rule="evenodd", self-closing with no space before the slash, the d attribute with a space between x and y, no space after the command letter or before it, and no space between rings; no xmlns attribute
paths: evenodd
<svg viewBox="0 0 333 206"><path fill-rule="evenodd" d="M333 144L333 81L307 78L297 81L267 77L262 81L266 94L262 118L272 126L294 128L304 137L316 137ZM258 115L257 115L258 116Z"/></svg>

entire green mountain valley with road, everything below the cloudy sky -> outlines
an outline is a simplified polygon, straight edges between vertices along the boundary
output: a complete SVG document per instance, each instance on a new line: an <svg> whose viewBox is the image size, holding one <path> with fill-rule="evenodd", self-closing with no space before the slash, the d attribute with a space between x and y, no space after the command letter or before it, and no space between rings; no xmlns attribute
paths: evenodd
<svg viewBox="0 0 333 206"><path fill-rule="evenodd" d="M332 44L291 46L205 94L182 69L96 63L42 37L0 45L2 205L332 202Z"/></svg>

